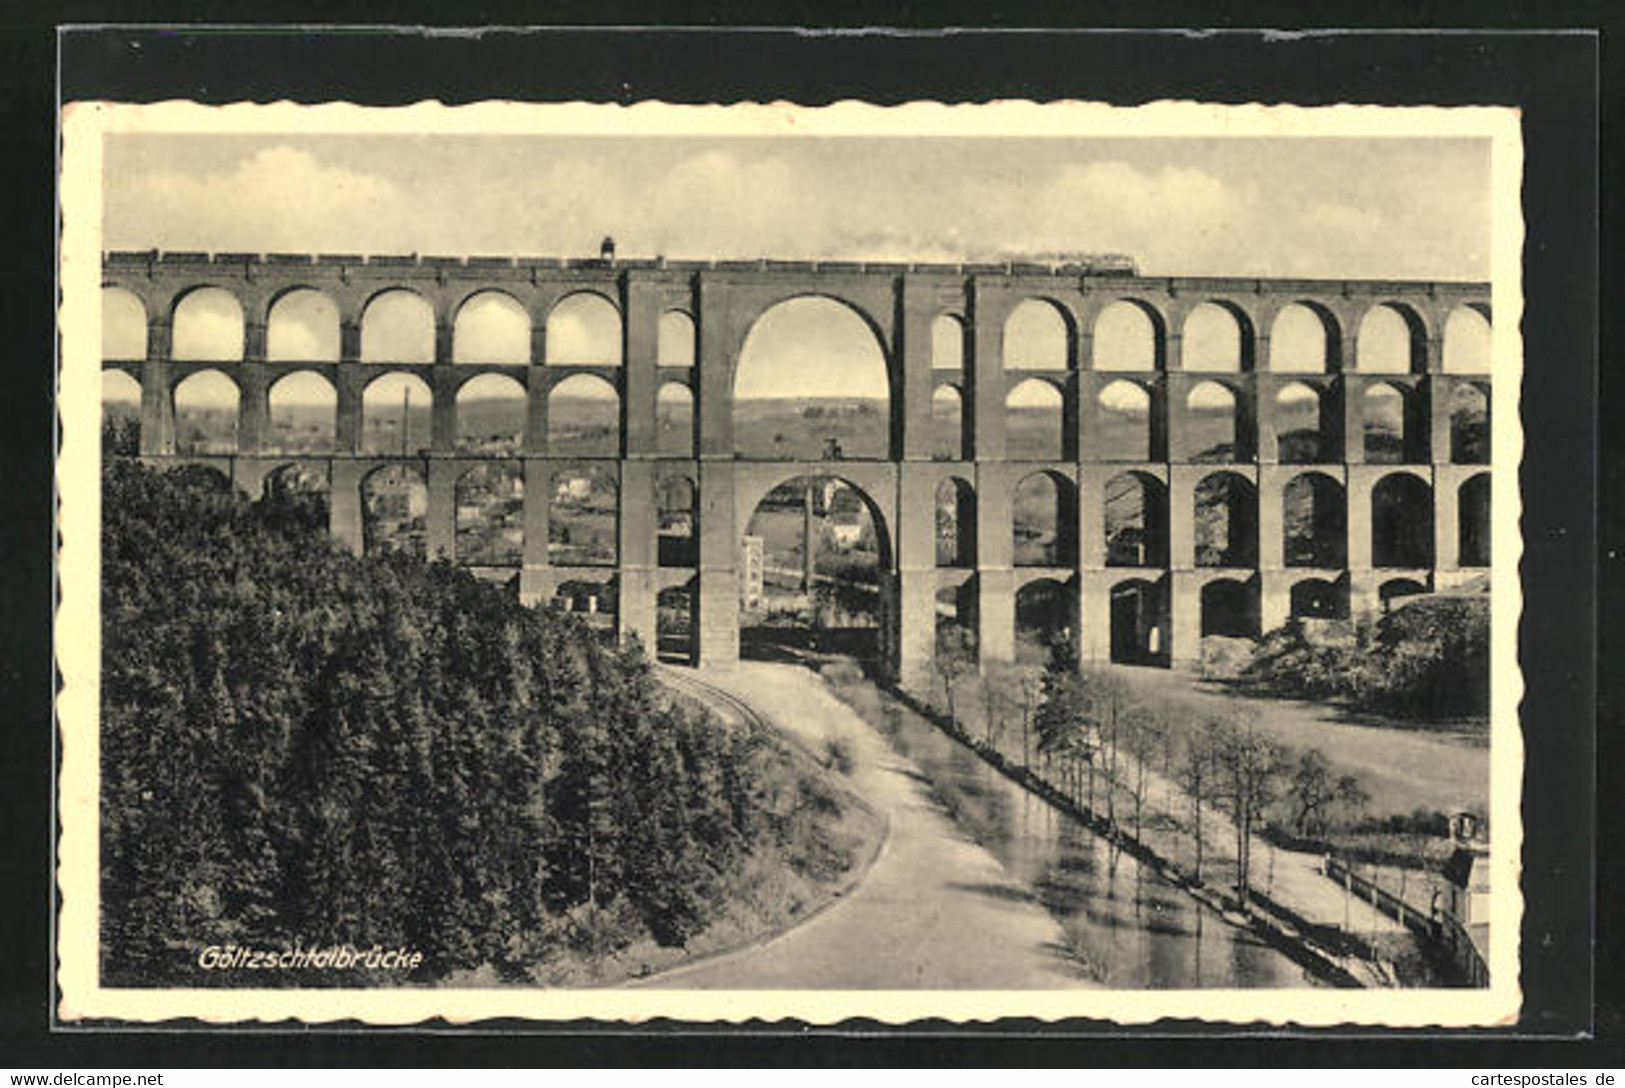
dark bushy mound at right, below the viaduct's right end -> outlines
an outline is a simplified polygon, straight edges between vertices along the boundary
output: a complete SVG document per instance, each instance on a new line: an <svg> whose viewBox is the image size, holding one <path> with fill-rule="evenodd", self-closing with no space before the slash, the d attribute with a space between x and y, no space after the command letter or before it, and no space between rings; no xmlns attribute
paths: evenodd
<svg viewBox="0 0 1625 1088"><path fill-rule="evenodd" d="M1358 625L1347 641L1316 641L1302 624L1287 624L1264 638L1240 684L1396 718L1485 718L1488 656L1488 596L1433 596Z"/></svg>

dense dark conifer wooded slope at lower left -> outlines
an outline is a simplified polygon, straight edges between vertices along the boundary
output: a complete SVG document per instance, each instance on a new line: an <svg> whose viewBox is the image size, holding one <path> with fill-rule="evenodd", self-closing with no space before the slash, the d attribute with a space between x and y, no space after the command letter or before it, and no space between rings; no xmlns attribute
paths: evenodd
<svg viewBox="0 0 1625 1088"><path fill-rule="evenodd" d="M320 513L185 469L104 474L109 984L223 982L195 965L226 943L406 945L419 981L535 979L684 943L764 853L814 879L850 864L816 823L840 799L769 737L658 698L635 646L448 563L341 554Z"/></svg>

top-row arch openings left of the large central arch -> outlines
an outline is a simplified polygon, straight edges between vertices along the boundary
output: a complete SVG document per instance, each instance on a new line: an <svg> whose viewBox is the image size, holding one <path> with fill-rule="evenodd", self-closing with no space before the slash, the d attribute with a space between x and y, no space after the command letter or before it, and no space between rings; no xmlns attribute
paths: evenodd
<svg viewBox="0 0 1625 1088"><path fill-rule="evenodd" d="M621 365L621 310L601 294L582 291L561 299L546 318L544 362ZM102 357L145 359L146 307L130 291L102 291ZM531 317L502 291L479 291L452 320L452 361L528 364L533 357ZM180 297L171 315L169 357L229 362L245 356L242 304L223 287L198 287ZM384 291L367 300L359 325L361 362L434 362L436 318L429 302L408 289ZM338 305L312 287L276 296L265 315L265 359L273 362L338 362L344 356ZM660 315L660 365L692 367L694 318L682 310Z"/></svg>

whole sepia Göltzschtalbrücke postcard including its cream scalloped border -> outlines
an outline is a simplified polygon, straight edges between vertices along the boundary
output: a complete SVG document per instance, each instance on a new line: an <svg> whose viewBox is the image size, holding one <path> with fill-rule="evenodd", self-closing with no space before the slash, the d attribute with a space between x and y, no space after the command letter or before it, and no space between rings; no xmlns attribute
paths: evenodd
<svg viewBox="0 0 1625 1088"><path fill-rule="evenodd" d="M63 1018L1516 1015L1514 112L63 123Z"/></svg>

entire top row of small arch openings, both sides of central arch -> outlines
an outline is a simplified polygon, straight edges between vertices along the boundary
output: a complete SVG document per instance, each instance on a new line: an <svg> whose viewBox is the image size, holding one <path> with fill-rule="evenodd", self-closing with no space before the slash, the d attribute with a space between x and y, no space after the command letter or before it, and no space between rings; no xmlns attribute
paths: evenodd
<svg viewBox="0 0 1625 1088"><path fill-rule="evenodd" d="M242 304L224 287L198 287L174 305L169 357L179 361L240 361L245 354ZM452 317L453 362L528 364L535 357L530 312L510 294L486 289L471 294ZM1342 331L1331 310L1295 302L1268 330L1268 357L1258 359L1261 338L1238 307L1204 302L1178 328L1178 369L1245 372L1268 367L1280 373L1329 373L1354 369L1368 373L1415 373L1427 369L1427 331L1420 313L1401 302L1370 307L1357 325L1355 359L1344 361ZM1168 370L1168 335L1155 307L1138 300L1107 305L1090 330L1095 370ZM122 287L102 291L102 357L145 359L148 313ZM1003 325L1008 370L1069 370L1077 359L1077 330L1055 302L1027 299ZM621 310L608 297L580 291L548 312L540 362L621 365ZM968 326L952 313L931 325L931 365L960 370L968 357ZM434 362L436 317L422 296L405 287L379 292L361 310L362 362ZM1446 372L1490 369L1487 312L1461 305L1450 312L1441 335ZM666 310L656 328L656 362L692 367L697 352L694 318ZM341 315L327 294L294 287L276 296L265 313L265 357L288 362L336 362L343 357ZM1263 367L1261 367L1263 364Z"/></svg>

